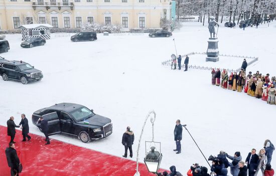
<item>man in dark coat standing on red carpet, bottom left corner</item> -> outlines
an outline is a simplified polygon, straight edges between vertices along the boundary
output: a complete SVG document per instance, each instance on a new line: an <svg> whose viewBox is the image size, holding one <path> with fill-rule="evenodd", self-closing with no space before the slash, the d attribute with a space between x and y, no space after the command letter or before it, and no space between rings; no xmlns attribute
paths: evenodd
<svg viewBox="0 0 276 176"><path fill-rule="evenodd" d="M11 167L11 175L14 175L14 170L17 170L17 173L19 173L19 164L20 160L18 158L17 152L16 152L16 146L15 143L11 142L9 144L9 147L6 148L6 157L8 161L9 167ZM17 174L19 175L19 174Z"/></svg>

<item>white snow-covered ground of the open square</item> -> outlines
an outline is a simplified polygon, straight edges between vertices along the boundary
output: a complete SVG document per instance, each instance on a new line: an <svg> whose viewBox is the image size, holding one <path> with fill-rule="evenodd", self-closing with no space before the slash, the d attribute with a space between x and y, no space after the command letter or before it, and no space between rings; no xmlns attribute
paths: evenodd
<svg viewBox="0 0 276 176"><path fill-rule="evenodd" d="M265 24L245 31L221 27L218 33L220 53L259 57L247 72L259 70L274 76L275 30L275 22L269 27ZM206 157L220 150L229 154L240 151L244 160L251 148L259 151L265 139L276 144L276 105L212 86L210 71L189 69L183 72L161 65L175 52L173 39L178 54L206 52L209 37L206 26L184 23L170 38L98 34L95 42L73 43L70 37L52 36L45 46L24 49L20 47L20 35L7 35L11 50L0 56L28 62L42 70L44 78L27 85L4 82L0 78L1 125L6 126L10 116L15 116L18 124L21 113L25 113L30 132L43 135L31 123L34 111L60 102L83 104L112 119L112 135L88 144L67 135L51 138L121 156L124 152L121 136L126 126L130 126L135 134L132 146L132 160L135 160L142 125L148 112L154 109L157 113L155 140L162 143L161 167L168 169L176 165L184 175L192 163L205 166L207 163L185 129L182 153L175 154L173 131L177 119L187 124ZM241 65L242 60L238 62ZM192 56L190 64L194 64ZM145 155L144 141L151 140L151 130L149 120L142 139L141 162ZM18 133L17 137L20 135ZM271 164L276 165L275 157Z"/></svg>

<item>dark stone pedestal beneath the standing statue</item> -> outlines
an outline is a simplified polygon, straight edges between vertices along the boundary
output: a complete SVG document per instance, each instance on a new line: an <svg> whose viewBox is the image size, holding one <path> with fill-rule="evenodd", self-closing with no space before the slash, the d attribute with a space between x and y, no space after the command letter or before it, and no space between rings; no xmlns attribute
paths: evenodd
<svg viewBox="0 0 276 176"><path fill-rule="evenodd" d="M219 61L218 38L209 38L206 62Z"/></svg>

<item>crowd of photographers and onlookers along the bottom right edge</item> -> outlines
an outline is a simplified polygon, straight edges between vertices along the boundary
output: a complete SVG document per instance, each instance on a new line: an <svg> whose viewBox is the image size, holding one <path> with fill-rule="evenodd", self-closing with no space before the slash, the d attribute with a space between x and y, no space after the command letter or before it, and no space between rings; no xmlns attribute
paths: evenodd
<svg viewBox="0 0 276 176"><path fill-rule="evenodd" d="M241 153L236 151L233 156L229 155L225 151L215 156L210 156L208 160L212 160L211 175L215 176L227 176L228 169L233 176L257 176L259 171L262 176L273 176L274 170L271 168L272 153L275 150L274 145L269 139L264 141L264 146L256 153L256 149L252 149L247 154L247 157L242 161ZM230 160L228 160L228 159ZM159 176L182 176L182 174L176 171L176 167L173 165L170 167L170 173L167 171L157 173ZM197 163L193 164L187 172L187 176L210 176L208 168L205 166L199 166Z"/></svg>

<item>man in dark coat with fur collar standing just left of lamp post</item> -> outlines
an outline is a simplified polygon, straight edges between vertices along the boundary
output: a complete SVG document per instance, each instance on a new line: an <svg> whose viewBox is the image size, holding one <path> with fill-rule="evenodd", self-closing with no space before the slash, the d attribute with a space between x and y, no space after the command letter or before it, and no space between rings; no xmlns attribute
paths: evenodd
<svg viewBox="0 0 276 176"><path fill-rule="evenodd" d="M122 144L124 146L124 155L123 157L127 157L127 148L129 149L129 156L132 157L132 145L134 141L134 133L130 131L130 127L126 127L126 131L122 135Z"/></svg>

